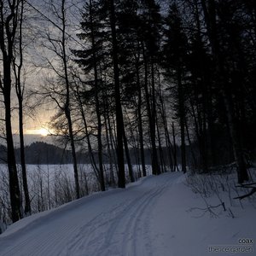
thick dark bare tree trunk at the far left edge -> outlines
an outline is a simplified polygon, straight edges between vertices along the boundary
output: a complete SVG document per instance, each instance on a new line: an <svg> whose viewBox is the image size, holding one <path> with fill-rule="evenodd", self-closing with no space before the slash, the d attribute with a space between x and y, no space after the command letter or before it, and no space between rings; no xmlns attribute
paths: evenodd
<svg viewBox="0 0 256 256"><path fill-rule="evenodd" d="M5 6L7 5L7 6ZM15 147L11 121L11 64L14 56L15 33L17 30L17 15L20 6L16 1L0 1L0 49L3 58L3 77L0 74L0 88L3 93L5 107L5 130L7 143L7 162L9 169L9 194L13 222L22 218L20 186L17 175ZM9 13L6 13L8 9ZM4 18L6 16L6 18Z"/></svg>

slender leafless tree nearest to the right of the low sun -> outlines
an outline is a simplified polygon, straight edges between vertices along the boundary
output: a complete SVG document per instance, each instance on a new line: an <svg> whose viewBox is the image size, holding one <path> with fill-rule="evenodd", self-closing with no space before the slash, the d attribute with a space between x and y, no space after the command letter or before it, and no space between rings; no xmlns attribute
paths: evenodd
<svg viewBox="0 0 256 256"><path fill-rule="evenodd" d="M71 82L68 71L68 61L70 61L70 58L67 44L70 34L67 29L67 12L69 7L65 0L62 0L61 4L50 1L46 6L49 7L49 12L52 14L51 18L47 18L47 16L40 13L40 11L38 12L46 19L45 21L49 23L49 29L44 34L42 44L44 49L49 53L49 55L45 56L45 60L47 62L46 68L51 75L50 79L46 81L47 84L45 84L43 91L39 91L39 94L41 93L45 98L49 98L52 102L55 102L58 113L54 119L62 118L61 120L64 120L62 126L63 124L66 125L64 130L66 130L65 135L72 150L76 197L79 198L79 171L71 113ZM57 122L55 124L57 124Z"/></svg>

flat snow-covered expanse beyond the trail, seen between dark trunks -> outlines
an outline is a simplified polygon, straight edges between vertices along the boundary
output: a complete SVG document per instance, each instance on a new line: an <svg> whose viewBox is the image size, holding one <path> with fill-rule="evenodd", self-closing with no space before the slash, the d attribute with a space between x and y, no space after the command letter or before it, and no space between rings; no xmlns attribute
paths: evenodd
<svg viewBox="0 0 256 256"><path fill-rule="evenodd" d="M91 195L100 190L93 167L81 164L79 167L80 195ZM140 176L140 166L133 166L134 177ZM147 175L151 175L151 166L146 166ZM104 177L107 190L115 187L110 178L111 166L104 164ZM125 165L126 180L129 182L128 166ZM76 198L73 165L27 165L27 183L31 199L32 213L43 212L59 207ZM20 181L21 167L18 165ZM117 181L117 173L113 166L113 176ZM5 224L11 223L9 212L9 172L7 165L0 164L0 234ZM22 183L20 183L20 189ZM23 195L24 198L24 195ZM3 223L3 224L2 224Z"/></svg>

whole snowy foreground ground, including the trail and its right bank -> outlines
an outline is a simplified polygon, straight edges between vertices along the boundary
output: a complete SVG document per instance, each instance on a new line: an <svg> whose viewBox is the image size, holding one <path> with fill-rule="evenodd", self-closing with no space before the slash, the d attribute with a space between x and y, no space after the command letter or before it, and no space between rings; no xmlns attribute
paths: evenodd
<svg viewBox="0 0 256 256"><path fill-rule="evenodd" d="M184 183L179 172L150 176L24 218L0 236L0 255L255 255L253 203L199 218L189 210L204 201Z"/></svg>

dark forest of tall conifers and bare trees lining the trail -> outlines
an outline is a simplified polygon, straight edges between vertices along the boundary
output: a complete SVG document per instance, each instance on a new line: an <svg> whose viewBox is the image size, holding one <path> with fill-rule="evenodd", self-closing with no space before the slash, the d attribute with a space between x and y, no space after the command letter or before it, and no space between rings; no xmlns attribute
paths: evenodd
<svg viewBox="0 0 256 256"><path fill-rule="evenodd" d="M14 222L31 211L23 140L27 97L56 108L50 125L72 152L77 198L78 148L88 152L102 191L106 155L108 177L125 188L125 163L131 182L134 159L139 176L146 176L147 150L154 175L212 172L235 162L237 182L247 181L256 154L255 1L87 0L81 7L44 0L40 6L0 1L1 129ZM26 90L27 63L38 55L42 79ZM12 121L20 124L22 189Z"/></svg>

